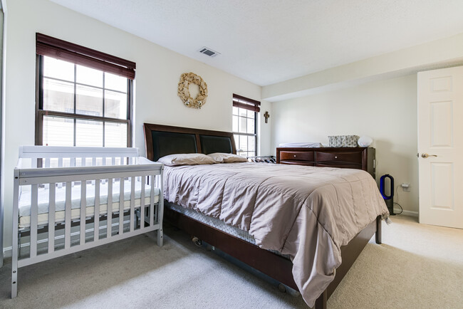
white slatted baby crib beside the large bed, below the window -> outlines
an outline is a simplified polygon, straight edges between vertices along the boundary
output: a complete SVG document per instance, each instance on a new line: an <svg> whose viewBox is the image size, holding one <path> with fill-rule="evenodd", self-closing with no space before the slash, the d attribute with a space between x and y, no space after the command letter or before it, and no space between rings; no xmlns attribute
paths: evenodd
<svg viewBox="0 0 463 309"><path fill-rule="evenodd" d="M155 230L162 246L162 169L136 148L20 147L11 298L23 266Z"/></svg>

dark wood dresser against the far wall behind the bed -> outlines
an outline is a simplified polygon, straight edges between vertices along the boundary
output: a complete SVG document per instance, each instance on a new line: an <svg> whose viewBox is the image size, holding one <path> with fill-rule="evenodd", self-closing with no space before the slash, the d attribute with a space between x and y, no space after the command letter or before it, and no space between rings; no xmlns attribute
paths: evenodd
<svg viewBox="0 0 463 309"><path fill-rule="evenodd" d="M276 148L276 163L363 169L376 179L375 148L371 147L278 147Z"/></svg>

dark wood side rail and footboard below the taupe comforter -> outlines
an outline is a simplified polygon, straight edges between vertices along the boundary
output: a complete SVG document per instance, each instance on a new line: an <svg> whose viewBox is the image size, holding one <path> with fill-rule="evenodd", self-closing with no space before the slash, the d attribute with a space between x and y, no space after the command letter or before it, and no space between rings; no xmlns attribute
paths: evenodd
<svg viewBox="0 0 463 309"><path fill-rule="evenodd" d="M167 201L166 201L167 203ZM191 236L197 236L199 239L206 241L212 246L219 248L224 253L233 256L234 258L246 263L247 265L255 268L267 276L274 278L275 280L298 290L296 283L293 280L292 268L293 263L283 256L279 256L271 251L259 248L258 246L248 243L235 236L215 229L212 226L208 226L199 222L195 219L189 218L184 214L180 214L177 211L166 207L165 221L170 224L177 226L179 229L187 232ZM328 288L323 292L322 295L316 300L316 309L326 308L326 301L333 294L335 288L338 286L340 281L343 280L346 273L348 273L350 267L353 265L355 260L358 258L360 253L365 248L366 244L373 235L376 234L376 242L380 243L381 237L381 218L378 216L375 221L372 221L368 226L365 227L355 238L348 243L347 246L341 247L341 256L343 263L336 268L336 276L330 283Z"/></svg>

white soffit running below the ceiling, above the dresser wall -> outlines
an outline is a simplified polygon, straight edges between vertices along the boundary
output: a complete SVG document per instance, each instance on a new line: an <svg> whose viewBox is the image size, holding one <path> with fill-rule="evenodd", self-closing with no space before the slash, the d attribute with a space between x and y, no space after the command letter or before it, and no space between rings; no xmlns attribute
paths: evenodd
<svg viewBox="0 0 463 309"><path fill-rule="evenodd" d="M463 63L463 33L262 87L270 102Z"/></svg>

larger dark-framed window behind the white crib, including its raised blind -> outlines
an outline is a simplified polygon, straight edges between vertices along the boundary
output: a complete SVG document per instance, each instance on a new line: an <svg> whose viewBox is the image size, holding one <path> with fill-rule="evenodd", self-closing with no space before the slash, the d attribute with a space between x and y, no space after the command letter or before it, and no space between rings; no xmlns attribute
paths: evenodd
<svg viewBox="0 0 463 309"><path fill-rule="evenodd" d="M36 145L130 147L135 63L37 33Z"/></svg>

